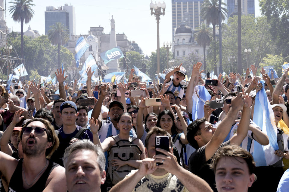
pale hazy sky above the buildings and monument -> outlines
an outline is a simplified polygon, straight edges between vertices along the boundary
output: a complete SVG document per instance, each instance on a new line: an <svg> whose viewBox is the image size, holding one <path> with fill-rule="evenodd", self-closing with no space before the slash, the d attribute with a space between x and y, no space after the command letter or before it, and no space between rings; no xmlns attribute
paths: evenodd
<svg viewBox="0 0 289 192"><path fill-rule="evenodd" d="M11 6L7 0L7 9ZM44 11L46 6L59 7L65 3L75 7L76 35L88 34L90 27L104 27L104 33L110 32L111 15L115 20L117 33L125 33L129 41L135 41L144 52L151 55L157 49L157 23L149 8L151 0L34 0L33 10L35 14L30 23L24 24L25 32L30 25L32 30L38 30L39 34L45 34ZM172 41L172 5L171 0L165 0L165 15L160 16L160 46L163 42ZM258 1L255 0L255 15L259 16ZM13 31L20 31L20 23L11 19L7 14L7 26Z"/></svg>

